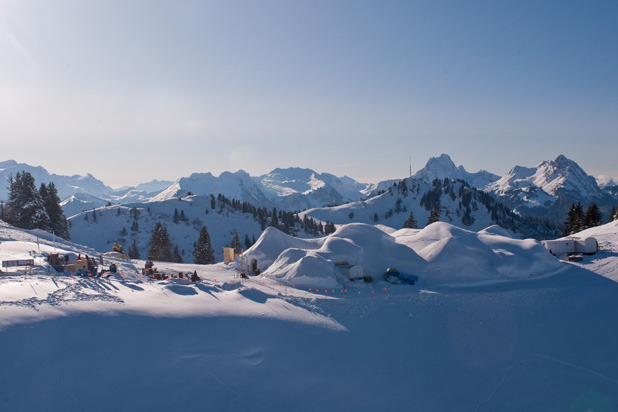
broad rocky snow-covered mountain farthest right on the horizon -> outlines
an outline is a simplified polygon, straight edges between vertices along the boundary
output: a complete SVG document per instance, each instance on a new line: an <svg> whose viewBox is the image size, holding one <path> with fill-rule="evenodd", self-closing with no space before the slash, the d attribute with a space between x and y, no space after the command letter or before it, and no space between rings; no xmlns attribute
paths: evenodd
<svg viewBox="0 0 618 412"><path fill-rule="evenodd" d="M587 207L596 202L607 213L616 202L598 186L594 177L563 155L536 167L515 166L485 190L523 216L556 223L564 221L572 203L580 202Z"/></svg>

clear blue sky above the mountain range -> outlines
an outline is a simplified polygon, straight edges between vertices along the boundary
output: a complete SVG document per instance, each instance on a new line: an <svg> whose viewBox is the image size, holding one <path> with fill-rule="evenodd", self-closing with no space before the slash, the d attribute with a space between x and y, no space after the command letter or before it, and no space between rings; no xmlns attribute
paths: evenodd
<svg viewBox="0 0 618 412"><path fill-rule="evenodd" d="M0 138L112 186L441 153L618 177L618 2L4 0Z"/></svg>

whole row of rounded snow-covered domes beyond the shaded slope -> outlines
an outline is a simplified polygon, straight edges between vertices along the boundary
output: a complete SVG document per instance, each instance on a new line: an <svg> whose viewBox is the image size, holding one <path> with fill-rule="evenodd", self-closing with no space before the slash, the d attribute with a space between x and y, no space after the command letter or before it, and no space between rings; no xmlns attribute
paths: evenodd
<svg viewBox="0 0 618 412"><path fill-rule="evenodd" d="M338 262L360 265L377 281L396 267L424 285L529 278L562 267L538 241L514 239L499 226L473 232L443 222L392 234L351 223L312 240L269 228L246 255L248 261L257 260L263 276L326 288L345 280L335 267Z"/></svg>

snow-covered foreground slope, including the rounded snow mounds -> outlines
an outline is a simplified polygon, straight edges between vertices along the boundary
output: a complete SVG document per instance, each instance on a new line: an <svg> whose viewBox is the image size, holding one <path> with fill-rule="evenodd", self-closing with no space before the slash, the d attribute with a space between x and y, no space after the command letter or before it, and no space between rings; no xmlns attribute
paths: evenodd
<svg viewBox="0 0 618 412"><path fill-rule="evenodd" d="M111 277L56 273L45 254L99 255L0 222L0 258L35 259L0 275L1 409L614 410L617 225L581 264L498 227L267 230L245 256L260 276L156 262L191 283L105 257ZM319 270L343 256L419 282Z"/></svg>

